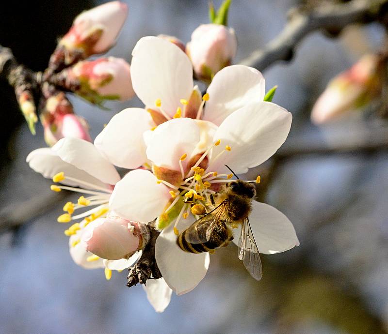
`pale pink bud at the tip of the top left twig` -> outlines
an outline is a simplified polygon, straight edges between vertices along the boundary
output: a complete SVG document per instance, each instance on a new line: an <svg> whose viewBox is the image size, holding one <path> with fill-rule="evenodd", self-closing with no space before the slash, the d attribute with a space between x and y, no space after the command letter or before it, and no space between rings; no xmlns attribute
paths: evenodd
<svg viewBox="0 0 388 334"><path fill-rule="evenodd" d="M127 5L120 1L85 11L76 17L59 44L68 50L82 49L86 57L106 52L113 46L127 14Z"/></svg>

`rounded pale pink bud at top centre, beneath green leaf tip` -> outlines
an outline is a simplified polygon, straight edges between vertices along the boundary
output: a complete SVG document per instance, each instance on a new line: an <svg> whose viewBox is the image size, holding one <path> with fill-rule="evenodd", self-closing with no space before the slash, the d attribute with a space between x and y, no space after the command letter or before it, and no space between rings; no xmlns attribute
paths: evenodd
<svg viewBox="0 0 388 334"><path fill-rule="evenodd" d="M186 46L195 75L202 80L211 80L219 70L230 65L236 52L237 39L234 30L219 24L199 26Z"/></svg>

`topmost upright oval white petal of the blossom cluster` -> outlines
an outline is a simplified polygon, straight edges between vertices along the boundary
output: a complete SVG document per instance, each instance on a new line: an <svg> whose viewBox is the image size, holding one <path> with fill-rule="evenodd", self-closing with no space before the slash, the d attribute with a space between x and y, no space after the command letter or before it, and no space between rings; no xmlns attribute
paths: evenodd
<svg viewBox="0 0 388 334"><path fill-rule="evenodd" d="M188 100L193 90L193 67L182 50L162 38L148 36L137 42L130 67L132 86L146 106L162 109L174 116L180 99Z"/></svg>

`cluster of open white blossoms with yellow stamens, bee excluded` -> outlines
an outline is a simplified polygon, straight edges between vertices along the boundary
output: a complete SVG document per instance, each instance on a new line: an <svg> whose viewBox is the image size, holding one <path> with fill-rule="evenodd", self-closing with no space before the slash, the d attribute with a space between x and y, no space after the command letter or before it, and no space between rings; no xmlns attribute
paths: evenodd
<svg viewBox="0 0 388 334"><path fill-rule="evenodd" d="M189 57L165 37L139 40L130 76L144 108L113 116L94 144L63 138L51 149L31 152L27 162L52 178L53 191L82 194L76 203L67 202L58 217L61 223L74 223L65 234L77 264L105 268L110 279L112 270L129 268L139 259L149 240L147 225L160 231L155 259L162 278L148 279L145 288L162 312L172 291L180 295L194 289L210 264L208 252L179 249L179 231L205 213L210 194L231 181L226 165L245 173L276 152L292 117L263 101L265 80L251 67L226 66L202 94L194 86ZM121 179L115 167L131 170ZM250 221L260 253L299 245L283 213L264 203L252 205Z"/></svg>

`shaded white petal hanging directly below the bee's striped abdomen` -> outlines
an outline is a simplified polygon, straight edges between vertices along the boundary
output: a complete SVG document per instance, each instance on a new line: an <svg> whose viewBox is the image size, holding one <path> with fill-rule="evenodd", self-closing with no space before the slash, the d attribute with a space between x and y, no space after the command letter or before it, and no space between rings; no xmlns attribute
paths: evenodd
<svg viewBox="0 0 388 334"><path fill-rule="evenodd" d="M193 221L182 219L179 231L188 228ZM163 229L156 239L155 258L163 278L177 295L193 290L205 277L210 264L209 253L186 253L178 247L173 224Z"/></svg>

